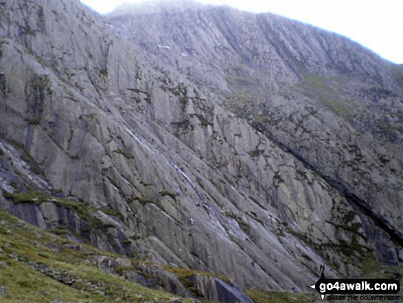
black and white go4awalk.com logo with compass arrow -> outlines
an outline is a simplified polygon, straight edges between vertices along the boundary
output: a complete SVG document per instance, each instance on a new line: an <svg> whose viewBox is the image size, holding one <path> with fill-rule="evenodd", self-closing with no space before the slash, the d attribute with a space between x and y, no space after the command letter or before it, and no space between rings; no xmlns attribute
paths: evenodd
<svg viewBox="0 0 403 303"><path fill-rule="evenodd" d="M321 278L311 285L327 300L399 301L400 282L394 279L326 279L321 266Z"/></svg>

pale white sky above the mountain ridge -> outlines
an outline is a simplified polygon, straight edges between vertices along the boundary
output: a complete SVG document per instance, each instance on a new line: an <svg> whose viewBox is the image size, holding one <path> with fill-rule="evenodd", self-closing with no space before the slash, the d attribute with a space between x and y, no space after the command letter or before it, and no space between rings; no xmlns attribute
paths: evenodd
<svg viewBox="0 0 403 303"><path fill-rule="evenodd" d="M104 14L144 0L81 0ZM165 0L166 1L166 0ZM169 1L169 0L168 0ZM403 0L198 0L250 12L273 12L347 36L393 63L403 64Z"/></svg>

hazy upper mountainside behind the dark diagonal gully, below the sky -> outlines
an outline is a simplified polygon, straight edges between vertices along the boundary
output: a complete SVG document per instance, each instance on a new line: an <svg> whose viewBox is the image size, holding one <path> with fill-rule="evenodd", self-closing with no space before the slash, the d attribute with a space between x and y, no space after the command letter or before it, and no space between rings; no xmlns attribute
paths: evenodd
<svg viewBox="0 0 403 303"><path fill-rule="evenodd" d="M384 206L401 207L402 167L394 157L402 153L397 66L345 38L272 14L203 7L182 21L175 9L131 18L134 10L117 10L109 19L133 33L138 48L187 70L199 88L220 91L227 109L402 242L401 212L393 217ZM163 43L170 48L152 47ZM385 148L393 150L390 157Z"/></svg>

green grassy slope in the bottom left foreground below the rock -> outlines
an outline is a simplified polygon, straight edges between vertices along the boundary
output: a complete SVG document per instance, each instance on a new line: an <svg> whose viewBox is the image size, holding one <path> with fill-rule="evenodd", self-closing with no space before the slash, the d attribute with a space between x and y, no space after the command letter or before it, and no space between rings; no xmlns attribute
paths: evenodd
<svg viewBox="0 0 403 303"><path fill-rule="evenodd" d="M88 245L80 244L79 249L66 245L78 244L22 223L0 210L0 290L4 289L0 301L168 302L173 298L104 273L91 261L92 256L112 254ZM33 266L68 277L67 282L76 282L68 286Z"/></svg>

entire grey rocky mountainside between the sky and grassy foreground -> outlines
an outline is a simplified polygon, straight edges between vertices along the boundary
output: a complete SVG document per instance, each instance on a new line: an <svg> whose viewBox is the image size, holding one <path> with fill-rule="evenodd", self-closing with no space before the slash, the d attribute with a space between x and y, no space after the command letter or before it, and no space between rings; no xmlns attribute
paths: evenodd
<svg viewBox="0 0 403 303"><path fill-rule="evenodd" d="M402 262L400 67L279 16L189 2L99 16L7 1L0 36L13 214L244 288Z"/></svg>

